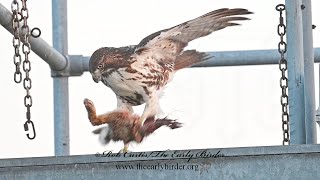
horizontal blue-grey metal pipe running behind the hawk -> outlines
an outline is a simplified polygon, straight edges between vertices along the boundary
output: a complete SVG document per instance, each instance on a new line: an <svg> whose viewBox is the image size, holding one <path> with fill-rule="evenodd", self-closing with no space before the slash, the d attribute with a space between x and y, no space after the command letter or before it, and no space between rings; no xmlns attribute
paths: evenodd
<svg viewBox="0 0 320 180"><path fill-rule="evenodd" d="M207 52L212 56L209 60L193 67L240 66L240 65L268 65L278 64L280 54L278 50L245 50L245 51L217 51ZM70 59L81 63L84 71L89 70L89 56L71 55ZM320 48L314 49L314 61L320 62Z"/></svg>

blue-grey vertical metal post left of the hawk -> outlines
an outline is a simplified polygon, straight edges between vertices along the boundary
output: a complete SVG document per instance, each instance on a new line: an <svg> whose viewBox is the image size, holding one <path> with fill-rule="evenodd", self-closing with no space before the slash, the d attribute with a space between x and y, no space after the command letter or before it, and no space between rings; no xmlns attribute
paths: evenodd
<svg viewBox="0 0 320 180"><path fill-rule="evenodd" d="M53 47L68 54L67 1L52 0ZM56 156L69 155L68 77L53 77L54 150Z"/></svg>

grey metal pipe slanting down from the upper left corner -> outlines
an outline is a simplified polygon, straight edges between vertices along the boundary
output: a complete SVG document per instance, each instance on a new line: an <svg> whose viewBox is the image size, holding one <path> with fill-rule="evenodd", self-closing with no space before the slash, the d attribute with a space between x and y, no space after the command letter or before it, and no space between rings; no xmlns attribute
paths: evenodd
<svg viewBox="0 0 320 180"><path fill-rule="evenodd" d="M11 21L12 13L0 3L0 24L12 34L13 29ZM29 40L32 51L47 62L52 70L60 71L67 67L68 62L66 57L51 47L43 39L30 36Z"/></svg>

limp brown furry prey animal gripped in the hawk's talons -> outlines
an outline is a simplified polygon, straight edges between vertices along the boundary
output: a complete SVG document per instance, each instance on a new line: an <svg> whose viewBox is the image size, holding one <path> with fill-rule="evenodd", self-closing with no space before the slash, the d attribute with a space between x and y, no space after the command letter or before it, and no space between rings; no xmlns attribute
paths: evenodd
<svg viewBox="0 0 320 180"><path fill-rule="evenodd" d="M84 105L88 111L88 118L93 126L108 124L95 131L94 134L99 134L99 140L102 144L108 144L110 140L123 141L123 152L128 150L130 142L135 141L141 143L143 138L153 133L161 126L168 126L171 129L181 127L181 123L170 119L154 119L148 118L143 126L136 123L140 116L133 114L126 109L118 109L102 115L96 114L94 104L89 99L84 100Z"/></svg>

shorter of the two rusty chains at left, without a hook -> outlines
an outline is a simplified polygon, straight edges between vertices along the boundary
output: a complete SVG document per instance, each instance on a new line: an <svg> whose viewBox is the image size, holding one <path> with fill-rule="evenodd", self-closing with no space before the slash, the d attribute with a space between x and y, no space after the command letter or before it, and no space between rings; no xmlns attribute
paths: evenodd
<svg viewBox="0 0 320 180"><path fill-rule="evenodd" d="M13 14L12 18L12 29L13 29L13 39L12 44L14 47L13 63L16 66L16 71L14 72L14 82L20 83L22 81L22 73L20 71L21 65L21 55L20 55L20 36L19 36L19 3L17 0L13 0L11 3L11 11Z"/></svg>

